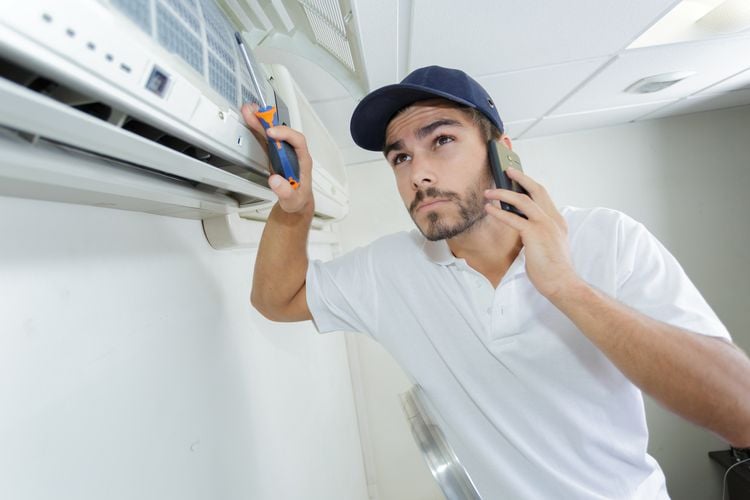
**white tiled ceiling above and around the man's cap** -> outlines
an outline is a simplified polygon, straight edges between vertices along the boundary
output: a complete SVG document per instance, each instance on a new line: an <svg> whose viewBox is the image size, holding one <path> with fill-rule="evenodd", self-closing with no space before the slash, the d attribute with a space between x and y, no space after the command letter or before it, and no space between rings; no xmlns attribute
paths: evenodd
<svg viewBox="0 0 750 500"><path fill-rule="evenodd" d="M750 104L748 30L627 49L678 3L341 1L351 8L347 31L357 44L365 90L395 83L421 66L460 68L493 96L515 139ZM299 53L263 44L257 51L259 59L289 68L347 164L379 157L349 136L356 105L351 85ZM695 74L659 92L624 92L641 78L672 71Z"/></svg>

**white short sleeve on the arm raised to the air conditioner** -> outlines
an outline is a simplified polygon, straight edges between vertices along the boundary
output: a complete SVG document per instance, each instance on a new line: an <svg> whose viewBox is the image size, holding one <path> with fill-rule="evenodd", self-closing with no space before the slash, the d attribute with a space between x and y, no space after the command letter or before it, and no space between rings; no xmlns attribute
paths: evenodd
<svg viewBox="0 0 750 500"><path fill-rule="evenodd" d="M369 333L378 307L372 257L367 248L307 268L307 307L320 333Z"/></svg>

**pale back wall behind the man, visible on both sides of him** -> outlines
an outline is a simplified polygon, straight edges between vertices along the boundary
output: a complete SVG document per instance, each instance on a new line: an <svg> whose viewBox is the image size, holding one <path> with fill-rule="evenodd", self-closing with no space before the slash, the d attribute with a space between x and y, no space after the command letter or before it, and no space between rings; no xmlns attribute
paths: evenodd
<svg viewBox="0 0 750 500"><path fill-rule="evenodd" d="M645 223L747 351L748 130L750 108L744 107L529 139L515 148L526 172L547 186L558 205L608 206ZM350 167L350 183L352 213L342 224L346 248L412 227L385 163ZM401 415L396 394L409 387L408 379L364 336L359 350L362 371L369 374L364 385L372 398L368 425L381 498L441 498L415 458L419 452ZM647 412L650 452L665 470L672 497L719 499L720 472L706 452L726 449L726 443L652 401Z"/></svg>

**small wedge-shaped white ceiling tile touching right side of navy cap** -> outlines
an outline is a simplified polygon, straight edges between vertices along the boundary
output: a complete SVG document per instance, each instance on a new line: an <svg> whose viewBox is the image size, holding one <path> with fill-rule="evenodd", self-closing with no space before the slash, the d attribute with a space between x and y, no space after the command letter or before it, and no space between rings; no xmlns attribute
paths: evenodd
<svg viewBox="0 0 750 500"><path fill-rule="evenodd" d="M493 97L504 121L543 116L609 58L556 64L477 78Z"/></svg>

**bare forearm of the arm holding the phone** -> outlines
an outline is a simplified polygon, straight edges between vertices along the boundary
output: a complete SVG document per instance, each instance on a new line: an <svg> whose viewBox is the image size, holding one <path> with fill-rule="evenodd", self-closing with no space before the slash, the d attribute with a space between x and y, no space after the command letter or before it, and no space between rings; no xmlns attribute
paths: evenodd
<svg viewBox="0 0 750 500"><path fill-rule="evenodd" d="M551 299L636 386L735 446L750 446L750 361L578 282Z"/></svg>

